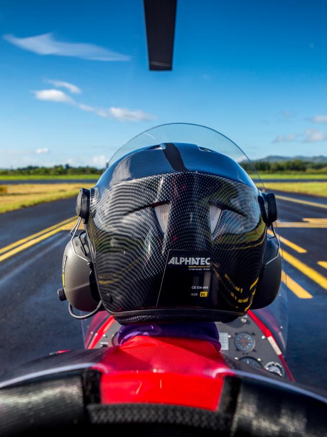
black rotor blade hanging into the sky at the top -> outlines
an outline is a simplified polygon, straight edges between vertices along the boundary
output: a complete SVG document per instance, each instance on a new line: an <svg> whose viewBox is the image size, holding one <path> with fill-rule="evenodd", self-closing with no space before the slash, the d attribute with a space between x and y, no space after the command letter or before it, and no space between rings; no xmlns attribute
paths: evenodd
<svg viewBox="0 0 327 437"><path fill-rule="evenodd" d="M177 0L144 0L150 70L171 70Z"/></svg>

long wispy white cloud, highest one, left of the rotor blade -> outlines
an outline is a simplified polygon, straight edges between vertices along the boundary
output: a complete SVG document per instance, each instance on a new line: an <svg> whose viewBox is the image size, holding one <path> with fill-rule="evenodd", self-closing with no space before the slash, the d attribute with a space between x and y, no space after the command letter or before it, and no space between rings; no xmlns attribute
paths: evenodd
<svg viewBox="0 0 327 437"><path fill-rule="evenodd" d="M39 55L71 56L96 61L128 61L130 56L113 52L104 47L81 42L64 42L55 39L53 33L19 38L12 34L3 36L14 46Z"/></svg>

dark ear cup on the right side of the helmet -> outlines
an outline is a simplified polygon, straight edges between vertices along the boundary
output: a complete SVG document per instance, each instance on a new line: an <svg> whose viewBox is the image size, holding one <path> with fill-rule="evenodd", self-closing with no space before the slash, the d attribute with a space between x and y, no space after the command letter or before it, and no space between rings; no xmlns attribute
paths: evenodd
<svg viewBox="0 0 327 437"><path fill-rule="evenodd" d="M273 259L277 251L278 244L276 238L268 238L264 264L251 304L251 310L267 307L275 300L278 294L279 286L281 285L282 262L279 252L278 256ZM269 263L268 261L270 259L272 259L272 261Z"/></svg>

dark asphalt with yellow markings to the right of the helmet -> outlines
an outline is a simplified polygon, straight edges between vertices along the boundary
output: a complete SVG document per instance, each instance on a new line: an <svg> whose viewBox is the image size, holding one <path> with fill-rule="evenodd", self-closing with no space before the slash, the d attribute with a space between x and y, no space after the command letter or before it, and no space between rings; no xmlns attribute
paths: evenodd
<svg viewBox="0 0 327 437"><path fill-rule="evenodd" d="M286 359L297 381L326 389L327 199L274 193L280 222L277 232L282 237L283 268L300 286L287 283L293 290L288 293ZM312 297L306 296L301 288Z"/></svg>

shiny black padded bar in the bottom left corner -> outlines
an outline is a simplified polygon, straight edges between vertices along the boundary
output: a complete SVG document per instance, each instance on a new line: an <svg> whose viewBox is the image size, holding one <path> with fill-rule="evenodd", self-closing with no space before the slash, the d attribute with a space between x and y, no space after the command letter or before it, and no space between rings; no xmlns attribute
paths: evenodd
<svg viewBox="0 0 327 437"><path fill-rule="evenodd" d="M46 435L85 423L80 375L53 375L0 390L0 435ZM41 434L40 434L40 431Z"/></svg>

